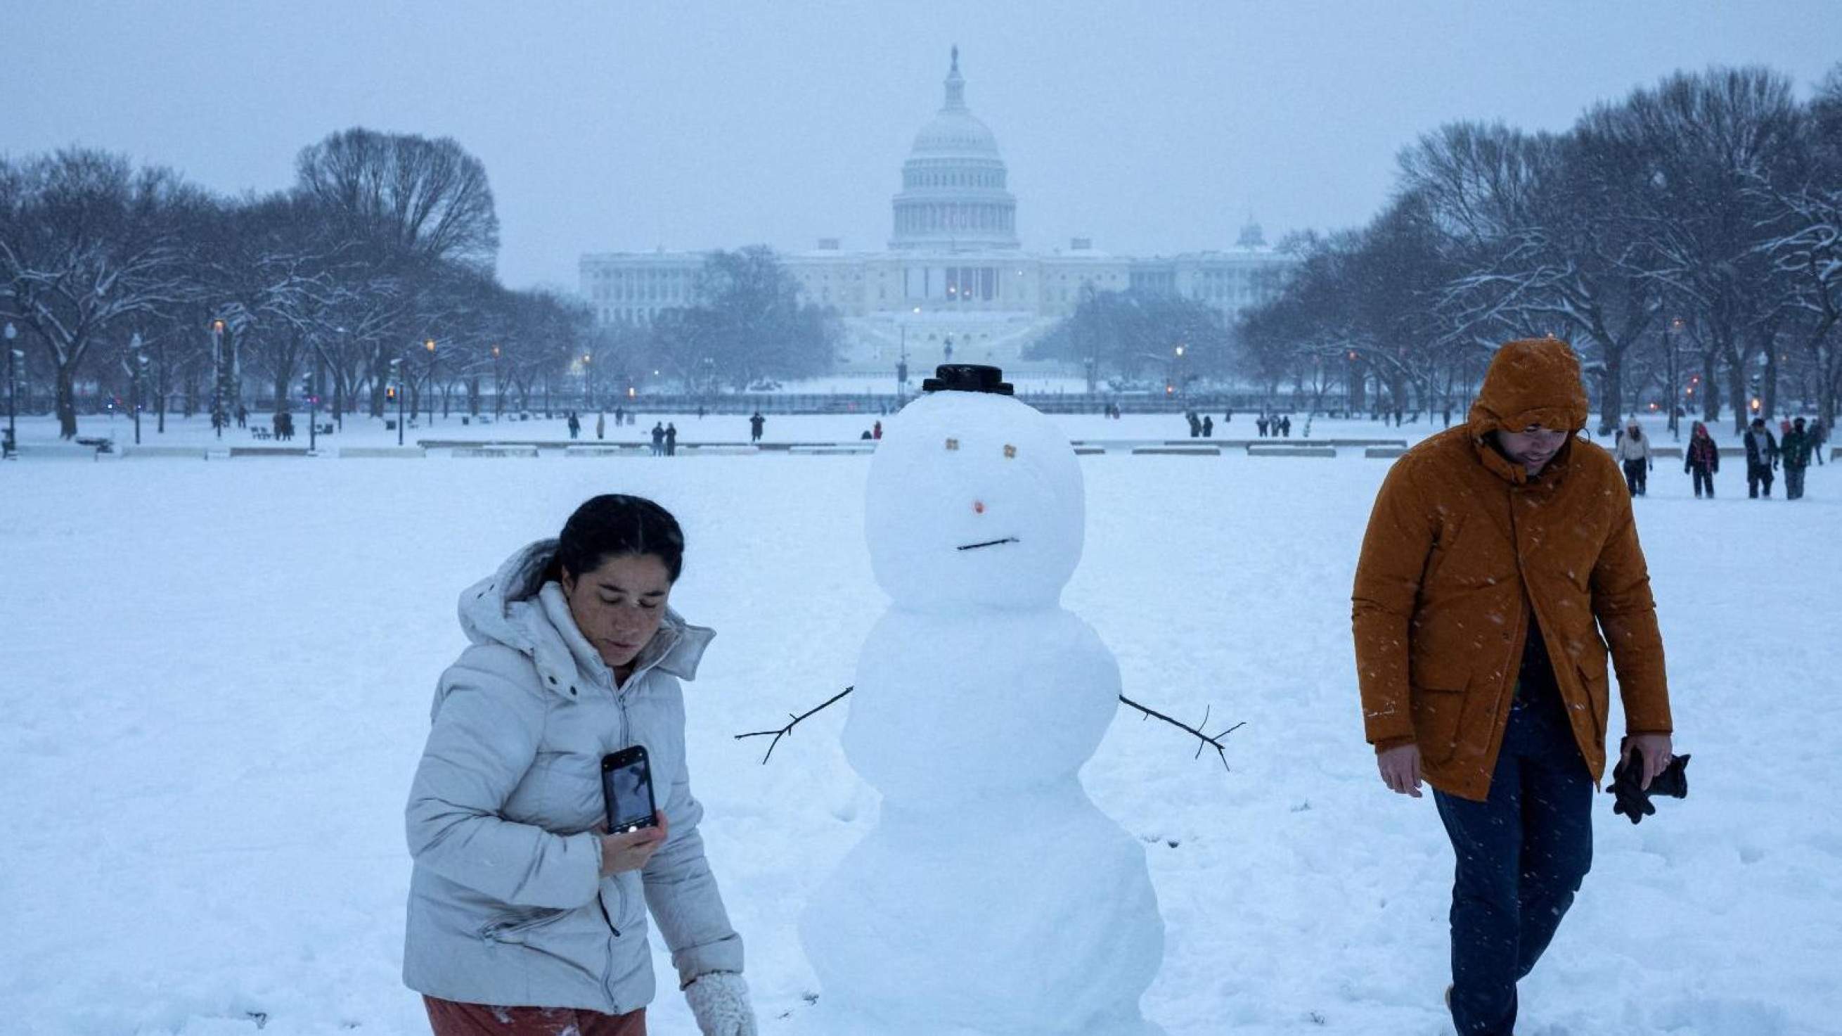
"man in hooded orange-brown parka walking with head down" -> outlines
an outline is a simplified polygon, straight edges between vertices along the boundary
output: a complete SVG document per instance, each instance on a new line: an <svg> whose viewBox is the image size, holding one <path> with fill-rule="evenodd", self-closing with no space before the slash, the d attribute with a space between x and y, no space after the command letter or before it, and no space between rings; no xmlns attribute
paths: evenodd
<svg viewBox="0 0 1842 1036"><path fill-rule="evenodd" d="M1433 785L1457 868L1451 1018L1509 1034L1591 865L1593 785L1625 702L1643 787L1671 759L1663 643L1617 463L1575 433L1580 363L1558 339L1503 345L1466 424L1409 450L1376 496L1356 568L1363 726L1389 789Z"/></svg>

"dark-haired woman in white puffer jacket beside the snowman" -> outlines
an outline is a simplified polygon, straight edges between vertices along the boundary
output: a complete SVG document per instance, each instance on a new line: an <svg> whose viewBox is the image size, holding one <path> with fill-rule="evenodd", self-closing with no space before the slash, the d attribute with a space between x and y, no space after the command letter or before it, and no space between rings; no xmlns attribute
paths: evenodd
<svg viewBox="0 0 1842 1036"><path fill-rule="evenodd" d="M753 1036L742 940L704 859L678 680L709 629L667 606L683 533L597 496L460 597L409 793L403 981L437 1036L643 1036L647 914L705 1036ZM606 833L600 759L645 745L659 826Z"/></svg>

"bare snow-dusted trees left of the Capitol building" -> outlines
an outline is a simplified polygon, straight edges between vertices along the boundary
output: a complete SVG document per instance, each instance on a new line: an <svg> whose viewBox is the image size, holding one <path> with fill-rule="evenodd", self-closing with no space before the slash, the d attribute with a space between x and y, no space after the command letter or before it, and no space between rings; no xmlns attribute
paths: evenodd
<svg viewBox="0 0 1842 1036"><path fill-rule="evenodd" d="M696 302L645 328L505 288L497 249L486 170L451 138L346 129L300 151L289 188L238 197L96 149L0 159L0 324L66 439L79 383L138 389L164 426L169 402L230 420L249 383L278 411L313 394L379 417L392 393L479 413L652 371L693 391L831 363L836 319L766 249L713 254Z"/></svg>

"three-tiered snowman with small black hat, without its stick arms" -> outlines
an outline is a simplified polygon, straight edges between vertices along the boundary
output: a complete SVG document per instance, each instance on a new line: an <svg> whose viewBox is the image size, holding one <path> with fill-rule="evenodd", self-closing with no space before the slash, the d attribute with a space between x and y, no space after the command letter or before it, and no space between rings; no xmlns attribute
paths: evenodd
<svg viewBox="0 0 1842 1036"><path fill-rule="evenodd" d="M882 811L799 922L823 1030L1159 1032L1138 1012L1164 955L1144 850L1078 778L1120 700L1113 653L1061 606L1081 468L1000 376L941 367L869 466L892 603L844 750Z"/></svg>

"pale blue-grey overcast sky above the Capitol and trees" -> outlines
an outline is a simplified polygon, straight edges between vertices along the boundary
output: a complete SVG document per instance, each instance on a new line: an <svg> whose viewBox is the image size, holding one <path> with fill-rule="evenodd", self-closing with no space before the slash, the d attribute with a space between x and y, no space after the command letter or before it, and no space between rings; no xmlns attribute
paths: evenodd
<svg viewBox="0 0 1842 1036"><path fill-rule="evenodd" d="M1234 243L1365 221L1450 120L1562 129L1676 68L1763 63L1800 96L1842 2L13 0L0 153L70 144L276 190L348 125L453 136L497 197L499 273L584 251L879 251L958 42L1026 249Z"/></svg>

